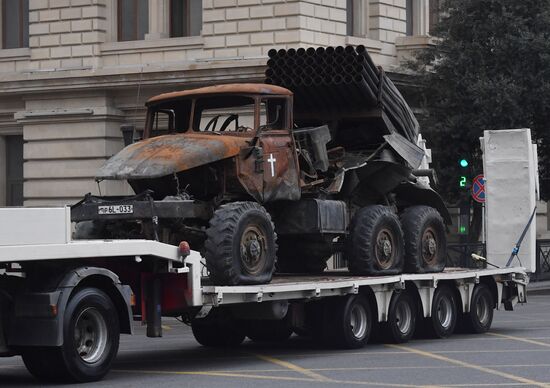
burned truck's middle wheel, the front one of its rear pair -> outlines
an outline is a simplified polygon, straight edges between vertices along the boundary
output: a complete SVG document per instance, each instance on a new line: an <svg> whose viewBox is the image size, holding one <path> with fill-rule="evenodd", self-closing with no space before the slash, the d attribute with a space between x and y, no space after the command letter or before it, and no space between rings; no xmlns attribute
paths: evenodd
<svg viewBox="0 0 550 388"><path fill-rule="evenodd" d="M357 275L403 272L403 231L386 206L367 206L355 214L346 241L349 270Z"/></svg>

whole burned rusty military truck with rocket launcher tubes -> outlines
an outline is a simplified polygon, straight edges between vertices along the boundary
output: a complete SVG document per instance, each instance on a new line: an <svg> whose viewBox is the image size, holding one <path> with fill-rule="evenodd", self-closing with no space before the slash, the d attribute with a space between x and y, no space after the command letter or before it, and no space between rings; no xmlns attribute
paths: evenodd
<svg viewBox="0 0 550 388"><path fill-rule="evenodd" d="M136 195L87 195L76 237L188 241L220 285L320 273L337 252L354 274L442 271L450 216L417 178L418 123L393 83L362 47L270 57L264 84L149 99L97 174Z"/></svg>

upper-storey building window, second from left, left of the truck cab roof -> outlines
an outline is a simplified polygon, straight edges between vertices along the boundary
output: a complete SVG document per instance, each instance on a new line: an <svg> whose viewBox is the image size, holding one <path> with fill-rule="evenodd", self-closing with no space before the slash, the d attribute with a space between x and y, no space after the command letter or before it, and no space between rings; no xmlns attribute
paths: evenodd
<svg viewBox="0 0 550 388"><path fill-rule="evenodd" d="M148 0L118 0L118 40L143 40L149 30Z"/></svg>

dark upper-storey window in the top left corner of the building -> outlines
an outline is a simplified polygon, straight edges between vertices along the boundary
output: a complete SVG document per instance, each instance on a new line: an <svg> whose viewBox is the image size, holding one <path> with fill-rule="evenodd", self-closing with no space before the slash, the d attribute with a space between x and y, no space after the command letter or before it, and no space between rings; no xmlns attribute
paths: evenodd
<svg viewBox="0 0 550 388"><path fill-rule="evenodd" d="M29 47L29 0L2 1L2 48Z"/></svg>

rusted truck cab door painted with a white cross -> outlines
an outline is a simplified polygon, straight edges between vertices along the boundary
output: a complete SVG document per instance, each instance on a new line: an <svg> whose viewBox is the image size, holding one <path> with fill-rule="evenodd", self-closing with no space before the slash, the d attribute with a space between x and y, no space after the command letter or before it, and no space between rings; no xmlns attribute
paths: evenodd
<svg viewBox="0 0 550 388"><path fill-rule="evenodd" d="M290 100L264 98L260 105L264 202L300 199L296 146L291 133Z"/></svg>

